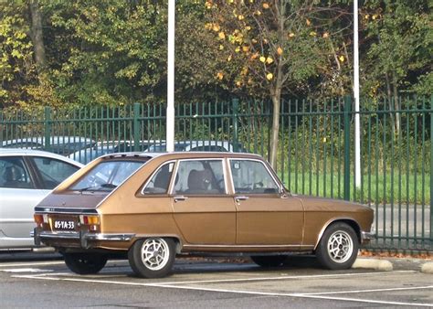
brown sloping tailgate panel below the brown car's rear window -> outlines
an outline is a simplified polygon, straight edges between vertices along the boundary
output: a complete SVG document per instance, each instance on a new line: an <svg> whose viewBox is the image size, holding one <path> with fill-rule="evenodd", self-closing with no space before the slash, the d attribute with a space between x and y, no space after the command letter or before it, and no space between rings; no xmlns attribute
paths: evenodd
<svg viewBox="0 0 433 309"><path fill-rule="evenodd" d="M109 192L51 193L37 205L37 208L97 208L108 194Z"/></svg>

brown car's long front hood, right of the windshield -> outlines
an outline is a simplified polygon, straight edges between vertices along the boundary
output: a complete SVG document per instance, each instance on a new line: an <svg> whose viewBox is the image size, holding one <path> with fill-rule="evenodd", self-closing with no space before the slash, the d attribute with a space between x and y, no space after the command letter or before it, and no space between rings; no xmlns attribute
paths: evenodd
<svg viewBox="0 0 433 309"><path fill-rule="evenodd" d="M368 211L364 205L349 202L342 199L333 199L327 197L309 197L293 195L301 199L302 205L306 211Z"/></svg>

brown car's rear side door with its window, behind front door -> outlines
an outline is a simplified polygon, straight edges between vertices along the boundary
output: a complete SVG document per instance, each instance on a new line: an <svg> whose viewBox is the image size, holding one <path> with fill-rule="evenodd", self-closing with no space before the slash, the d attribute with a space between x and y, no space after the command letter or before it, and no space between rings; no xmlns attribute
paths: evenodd
<svg viewBox="0 0 433 309"><path fill-rule="evenodd" d="M223 159L178 162L172 205L187 246L235 244L236 208L226 174Z"/></svg>

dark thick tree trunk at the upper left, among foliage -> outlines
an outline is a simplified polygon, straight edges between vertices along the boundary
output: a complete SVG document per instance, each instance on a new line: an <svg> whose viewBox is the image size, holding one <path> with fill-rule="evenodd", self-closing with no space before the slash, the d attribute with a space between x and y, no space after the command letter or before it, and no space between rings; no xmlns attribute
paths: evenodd
<svg viewBox="0 0 433 309"><path fill-rule="evenodd" d="M47 59L45 55L44 37L42 31L42 16L39 11L38 0L29 1L29 9L31 16L30 36L32 38L37 71L41 72L45 69Z"/></svg>

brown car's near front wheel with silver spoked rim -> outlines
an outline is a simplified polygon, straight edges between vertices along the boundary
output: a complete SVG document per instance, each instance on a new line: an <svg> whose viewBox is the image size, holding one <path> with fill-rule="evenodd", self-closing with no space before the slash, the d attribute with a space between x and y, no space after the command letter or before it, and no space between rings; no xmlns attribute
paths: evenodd
<svg viewBox="0 0 433 309"><path fill-rule="evenodd" d="M359 240L354 229L343 222L329 226L316 249L316 257L324 268L346 270L358 255Z"/></svg>

